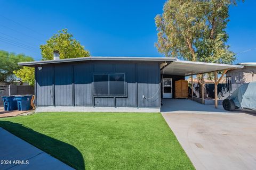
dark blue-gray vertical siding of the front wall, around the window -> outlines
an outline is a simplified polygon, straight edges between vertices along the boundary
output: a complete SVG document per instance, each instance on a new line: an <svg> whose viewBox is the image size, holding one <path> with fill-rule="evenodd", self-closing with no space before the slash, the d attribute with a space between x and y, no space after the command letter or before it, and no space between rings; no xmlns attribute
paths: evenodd
<svg viewBox="0 0 256 170"><path fill-rule="evenodd" d="M125 73L127 97L94 97L93 73ZM157 62L94 61L47 65L41 71L36 71L36 81L37 106L54 106L54 103L55 106L96 107L161 105L161 90L158 89L160 69ZM145 98L142 98L143 95Z"/></svg>

